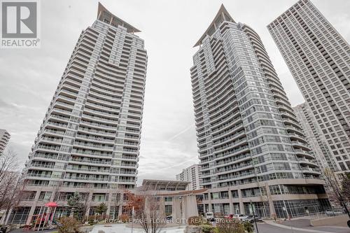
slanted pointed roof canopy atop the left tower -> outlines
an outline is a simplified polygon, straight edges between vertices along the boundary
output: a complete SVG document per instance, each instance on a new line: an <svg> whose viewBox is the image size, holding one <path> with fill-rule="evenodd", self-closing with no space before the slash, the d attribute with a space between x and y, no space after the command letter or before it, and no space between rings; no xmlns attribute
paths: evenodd
<svg viewBox="0 0 350 233"><path fill-rule="evenodd" d="M132 25L128 24L124 20L121 20L116 15L113 15L100 2L99 2L99 8L97 9L97 20L100 20L102 22L106 22L106 23L111 24L111 25L116 26L116 27L118 25L121 25L123 27L126 27L127 32L140 32L139 29L132 27Z"/></svg>

